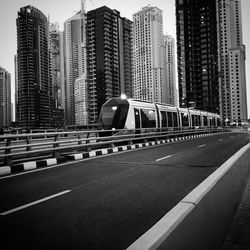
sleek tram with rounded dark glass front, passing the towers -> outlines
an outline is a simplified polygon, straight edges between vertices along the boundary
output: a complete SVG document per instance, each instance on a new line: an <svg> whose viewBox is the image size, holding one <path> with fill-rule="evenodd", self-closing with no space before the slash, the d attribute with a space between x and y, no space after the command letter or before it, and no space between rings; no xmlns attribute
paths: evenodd
<svg viewBox="0 0 250 250"><path fill-rule="evenodd" d="M218 114L116 97L103 104L98 128L114 130L216 126L221 126Z"/></svg>

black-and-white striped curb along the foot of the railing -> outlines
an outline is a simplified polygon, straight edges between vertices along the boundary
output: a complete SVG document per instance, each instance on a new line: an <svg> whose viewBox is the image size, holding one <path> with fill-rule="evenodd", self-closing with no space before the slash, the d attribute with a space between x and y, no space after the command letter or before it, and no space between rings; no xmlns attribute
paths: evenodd
<svg viewBox="0 0 250 250"><path fill-rule="evenodd" d="M101 156L101 155L106 155L106 154L127 151L131 149L138 149L138 148L150 147L150 146L155 146L155 145L160 145L160 144L167 144L167 143L176 142L176 141L184 141L184 140L208 136L208 135L214 135L214 133L182 136L182 137L176 137L176 138L171 138L171 139L166 139L166 140L144 142L144 143L139 143L139 144L127 145L127 146L119 146L119 147L114 147L114 148L93 150L90 152L66 155L65 158L71 161L81 160L81 159L86 159L86 158L91 158L91 157L96 157L96 156ZM62 163L64 161L65 160L62 158L49 158L45 160L25 162L25 163L21 163L15 166L3 166L3 167L0 167L0 176L18 173L22 171L33 170L33 169L42 168L42 167L48 167L48 166Z"/></svg>

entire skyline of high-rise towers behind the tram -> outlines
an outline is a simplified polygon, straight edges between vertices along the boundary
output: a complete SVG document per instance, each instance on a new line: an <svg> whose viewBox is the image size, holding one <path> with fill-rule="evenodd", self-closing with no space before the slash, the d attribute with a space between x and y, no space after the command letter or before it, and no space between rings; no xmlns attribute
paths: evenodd
<svg viewBox="0 0 250 250"><path fill-rule="evenodd" d="M21 8L15 56L19 126L95 125L101 106L121 94L218 113L225 124L246 121L240 0L175 5L176 41L163 33L162 10L150 5L131 21L106 6L86 12L82 0L63 31L37 8ZM0 127L9 126L10 74L1 67L0 104Z"/></svg>

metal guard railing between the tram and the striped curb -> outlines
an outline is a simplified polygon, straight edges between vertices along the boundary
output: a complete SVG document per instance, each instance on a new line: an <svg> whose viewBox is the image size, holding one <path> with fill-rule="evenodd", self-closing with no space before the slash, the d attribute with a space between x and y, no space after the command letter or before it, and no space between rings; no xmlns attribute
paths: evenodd
<svg viewBox="0 0 250 250"><path fill-rule="evenodd" d="M29 133L0 136L0 166L14 165L40 157L59 158L65 154L142 141L179 136L224 132L226 128L145 128L132 130L89 130L72 132Z"/></svg>

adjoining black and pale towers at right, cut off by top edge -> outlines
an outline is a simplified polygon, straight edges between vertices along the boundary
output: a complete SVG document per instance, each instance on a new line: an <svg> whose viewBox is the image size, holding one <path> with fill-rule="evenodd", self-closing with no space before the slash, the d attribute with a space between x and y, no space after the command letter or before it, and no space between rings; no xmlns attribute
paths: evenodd
<svg viewBox="0 0 250 250"><path fill-rule="evenodd" d="M181 107L247 120L240 0L176 0Z"/></svg>

